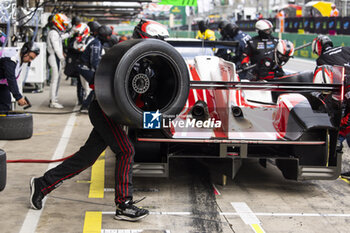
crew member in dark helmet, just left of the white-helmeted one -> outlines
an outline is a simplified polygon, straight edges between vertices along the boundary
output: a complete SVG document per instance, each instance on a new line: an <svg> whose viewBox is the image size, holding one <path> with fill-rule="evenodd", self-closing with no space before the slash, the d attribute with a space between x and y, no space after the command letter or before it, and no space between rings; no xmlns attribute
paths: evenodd
<svg viewBox="0 0 350 233"><path fill-rule="evenodd" d="M236 67L240 67L243 60L243 51L246 50L248 41L252 39L251 36L239 30L235 23L226 24L222 29L222 33L225 35L226 41L238 41L239 44L232 49L219 49L215 55L235 63ZM246 72L241 72L239 77L245 79Z"/></svg>

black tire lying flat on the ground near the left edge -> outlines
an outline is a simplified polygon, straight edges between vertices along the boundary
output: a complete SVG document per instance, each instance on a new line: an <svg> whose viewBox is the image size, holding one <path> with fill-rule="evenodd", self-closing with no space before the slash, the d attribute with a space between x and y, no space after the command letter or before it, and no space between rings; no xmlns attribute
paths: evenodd
<svg viewBox="0 0 350 233"><path fill-rule="evenodd" d="M0 140L31 138L33 117L31 114L11 112L0 114Z"/></svg>

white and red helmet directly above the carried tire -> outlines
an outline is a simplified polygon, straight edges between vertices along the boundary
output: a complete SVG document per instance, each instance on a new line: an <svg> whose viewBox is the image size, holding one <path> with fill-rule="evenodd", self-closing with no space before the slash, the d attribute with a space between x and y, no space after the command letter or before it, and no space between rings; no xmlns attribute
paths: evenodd
<svg viewBox="0 0 350 233"><path fill-rule="evenodd" d="M132 34L132 38L134 39L164 39L167 37L169 37L169 32L163 24L153 20L143 19L136 25Z"/></svg>

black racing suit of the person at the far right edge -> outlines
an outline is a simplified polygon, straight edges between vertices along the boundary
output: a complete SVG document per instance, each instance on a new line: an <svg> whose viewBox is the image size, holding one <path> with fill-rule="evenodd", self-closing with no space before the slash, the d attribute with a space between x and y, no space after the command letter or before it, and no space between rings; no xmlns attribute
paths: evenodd
<svg viewBox="0 0 350 233"><path fill-rule="evenodd" d="M343 118L340 123L339 139L350 145L350 47L327 47L316 60L317 66L338 65L345 67L345 97Z"/></svg>

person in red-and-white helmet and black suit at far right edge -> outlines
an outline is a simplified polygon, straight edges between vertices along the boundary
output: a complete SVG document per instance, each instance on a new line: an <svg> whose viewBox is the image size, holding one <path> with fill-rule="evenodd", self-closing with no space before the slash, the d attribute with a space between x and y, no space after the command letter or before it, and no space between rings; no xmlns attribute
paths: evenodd
<svg viewBox="0 0 350 233"><path fill-rule="evenodd" d="M333 42L328 36L319 35L312 41L312 52L319 56L316 60L317 66L345 67L344 113L337 142L337 151L341 152L345 139L350 146L350 47L333 47ZM350 171L342 173L342 177L350 179Z"/></svg>

